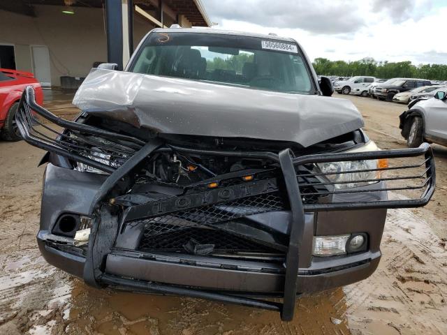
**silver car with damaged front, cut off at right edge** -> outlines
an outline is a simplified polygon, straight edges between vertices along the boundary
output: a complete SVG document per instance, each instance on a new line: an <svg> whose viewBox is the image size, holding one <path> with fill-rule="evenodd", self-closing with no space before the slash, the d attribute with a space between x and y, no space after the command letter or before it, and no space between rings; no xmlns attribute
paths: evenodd
<svg viewBox="0 0 447 335"><path fill-rule="evenodd" d="M400 115L402 136L409 147L416 148L423 141L447 146L447 88L433 98L418 101Z"/></svg>

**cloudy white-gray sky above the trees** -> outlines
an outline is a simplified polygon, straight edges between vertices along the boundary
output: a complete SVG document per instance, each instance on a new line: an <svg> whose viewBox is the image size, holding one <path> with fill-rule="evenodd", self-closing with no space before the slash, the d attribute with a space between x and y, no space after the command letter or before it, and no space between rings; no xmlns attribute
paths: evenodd
<svg viewBox="0 0 447 335"><path fill-rule="evenodd" d="M310 59L447 64L447 0L202 0L216 29L295 38Z"/></svg>

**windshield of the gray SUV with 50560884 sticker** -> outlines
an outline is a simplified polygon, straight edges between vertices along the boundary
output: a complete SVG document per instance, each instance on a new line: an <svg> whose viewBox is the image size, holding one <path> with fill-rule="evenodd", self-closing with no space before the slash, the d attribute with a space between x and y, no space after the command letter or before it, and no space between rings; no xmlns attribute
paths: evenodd
<svg viewBox="0 0 447 335"><path fill-rule="evenodd" d="M270 91L315 91L298 45L246 36L154 32L129 70Z"/></svg>

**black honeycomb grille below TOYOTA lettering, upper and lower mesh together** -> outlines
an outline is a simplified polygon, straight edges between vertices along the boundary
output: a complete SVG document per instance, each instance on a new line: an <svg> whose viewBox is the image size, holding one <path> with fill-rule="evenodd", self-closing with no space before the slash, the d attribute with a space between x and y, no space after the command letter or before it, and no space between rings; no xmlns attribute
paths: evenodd
<svg viewBox="0 0 447 335"><path fill-rule="evenodd" d="M140 250L184 251L184 245L192 239L196 244L214 244L214 252L268 252L266 246L212 228L224 221L287 208L279 192L272 192L129 224L145 225Z"/></svg>

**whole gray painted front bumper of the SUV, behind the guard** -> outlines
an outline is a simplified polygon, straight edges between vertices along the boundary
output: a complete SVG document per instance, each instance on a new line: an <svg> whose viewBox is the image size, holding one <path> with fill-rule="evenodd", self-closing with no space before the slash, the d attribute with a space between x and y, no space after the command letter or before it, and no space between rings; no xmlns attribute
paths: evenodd
<svg viewBox="0 0 447 335"><path fill-rule="evenodd" d="M45 169L38 245L47 262L80 278L84 275L87 249L73 246L71 237L54 234L54 226L58 218L67 213L88 216L95 193L104 181L105 177L101 174L59 168L51 163L48 163ZM73 194L83 196L76 198ZM383 196L386 198L384 194ZM284 232L289 230L291 212L269 211L247 218L258 225L268 225L269 221L274 221L277 229ZM372 274L380 258L379 247L385 219L386 209L305 213L303 242L298 260L299 292L309 293L348 285ZM339 224L341 222L343 224ZM268 262L266 259L256 261L241 257L238 262L234 262L228 258L198 257L178 251L175 254L166 251L143 251L138 248L139 242L135 241L135 231L122 230L118 234L115 249L107 255L106 274L173 285L265 295L284 290L282 260L278 262L272 257ZM353 232L367 234L367 251L329 258L312 256L312 239L315 234L324 236ZM277 256L284 258L284 253L281 254L283 256ZM195 261L199 261L201 266L192 265ZM263 271L259 271L259 268ZM254 271L249 271L250 269ZM179 276L178 271L182 271L183 275ZM186 273L190 276L186 276Z"/></svg>

